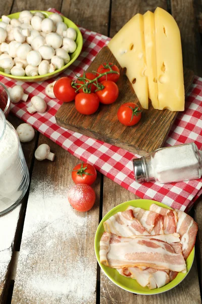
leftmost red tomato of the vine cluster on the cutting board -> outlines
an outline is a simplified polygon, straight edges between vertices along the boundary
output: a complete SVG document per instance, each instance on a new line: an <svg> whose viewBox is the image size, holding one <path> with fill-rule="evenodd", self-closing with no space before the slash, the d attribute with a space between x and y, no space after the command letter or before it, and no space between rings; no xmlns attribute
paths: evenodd
<svg viewBox="0 0 202 304"><path fill-rule="evenodd" d="M54 94L56 98L63 102L70 102L75 99L77 93L72 86L72 80L68 77L62 77L54 85Z"/></svg>

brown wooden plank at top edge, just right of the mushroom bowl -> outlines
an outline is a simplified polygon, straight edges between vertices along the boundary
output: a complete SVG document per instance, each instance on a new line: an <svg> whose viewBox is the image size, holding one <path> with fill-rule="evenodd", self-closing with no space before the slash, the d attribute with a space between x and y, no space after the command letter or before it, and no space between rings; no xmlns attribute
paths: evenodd
<svg viewBox="0 0 202 304"><path fill-rule="evenodd" d="M108 35L110 0L65 0L61 12L80 26Z"/></svg>

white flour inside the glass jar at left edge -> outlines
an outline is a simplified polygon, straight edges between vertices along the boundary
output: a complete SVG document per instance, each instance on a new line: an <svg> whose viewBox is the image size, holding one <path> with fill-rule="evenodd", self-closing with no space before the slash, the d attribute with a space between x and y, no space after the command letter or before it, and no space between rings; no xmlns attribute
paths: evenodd
<svg viewBox="0 0 202 304"><path fill-rule="evenodd" d="M18 137L7 124L0 139L0 211L11 206L21 195L21 191L18 191L22 180L18 157Z"/></svg>

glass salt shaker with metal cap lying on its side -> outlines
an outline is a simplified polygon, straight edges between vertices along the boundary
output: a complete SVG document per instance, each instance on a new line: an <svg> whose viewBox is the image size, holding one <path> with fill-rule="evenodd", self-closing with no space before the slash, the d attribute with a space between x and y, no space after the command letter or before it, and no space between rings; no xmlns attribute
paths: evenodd
<svg viewBox="0 0 202 304"><path fill-rule="evenodd" d="M160 148L147 157L134 159L133 168L137 182L197 179L202 174L202 151L193 142Z"/></svg>

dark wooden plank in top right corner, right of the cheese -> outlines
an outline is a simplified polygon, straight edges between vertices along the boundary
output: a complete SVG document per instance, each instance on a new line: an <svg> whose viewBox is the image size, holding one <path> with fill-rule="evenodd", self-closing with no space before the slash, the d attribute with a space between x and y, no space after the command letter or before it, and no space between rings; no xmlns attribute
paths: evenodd
<svg viewBox="0 0 202 304"><path fill-rule="evenodd" d="M201 76L201 44L193 2L193 0L171 0L171 12L181 33L183 64Z"/></svg>

